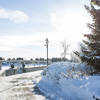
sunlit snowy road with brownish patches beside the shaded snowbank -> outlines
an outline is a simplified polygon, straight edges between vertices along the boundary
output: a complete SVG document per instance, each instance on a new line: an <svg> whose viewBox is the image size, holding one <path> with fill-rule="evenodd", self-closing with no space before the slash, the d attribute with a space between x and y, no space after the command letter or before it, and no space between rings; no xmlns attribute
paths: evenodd
<svg viewBox="0 0 100 100"><path fill-rule="evenodd" d="M43 95L35 93L40 91L34 82L40 79L41 71L0 77L0 100L44 100Z"/></svg>

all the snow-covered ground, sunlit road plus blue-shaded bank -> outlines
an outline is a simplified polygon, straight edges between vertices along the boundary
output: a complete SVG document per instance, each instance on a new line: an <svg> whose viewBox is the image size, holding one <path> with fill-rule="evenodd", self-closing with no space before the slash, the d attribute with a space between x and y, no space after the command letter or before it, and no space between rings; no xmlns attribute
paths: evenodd
<svg viewBox="0 0 100 100"><path fill-rule="evenodd" d="M100 76L85 70L85 64L61 62L44 71L0 77L0 100L99 100Z"/></svg>

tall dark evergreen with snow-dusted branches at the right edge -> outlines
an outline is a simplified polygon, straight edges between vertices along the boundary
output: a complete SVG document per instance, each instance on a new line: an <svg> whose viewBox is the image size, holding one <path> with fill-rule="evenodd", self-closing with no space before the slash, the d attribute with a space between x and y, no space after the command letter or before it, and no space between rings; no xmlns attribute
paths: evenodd
<svg viewBox="0 0 100 100"><path fill-rule="evenodd" d="M95 5L100 4L99 0L91 0L91 7L85 5L86 10L90 13L93 23L87 26L91 30L91 34L84 34L87 40L83 40L80 45L81 53L74 53L80 57L82 62L94 67L95 72L100 72L100 9L96 9Z"/></svg>

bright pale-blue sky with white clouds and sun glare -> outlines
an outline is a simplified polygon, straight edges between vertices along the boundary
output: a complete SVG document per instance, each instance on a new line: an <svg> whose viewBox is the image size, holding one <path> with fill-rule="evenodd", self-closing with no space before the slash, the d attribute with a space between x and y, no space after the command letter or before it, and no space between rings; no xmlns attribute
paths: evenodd
<svg viewBox="0 0 100 100"><path fill-rule="evenodd" d="M49 58L60 57L63 40L76 49L90 21L84 4L89 0L0 0L0 56L46 58L46 38Z"/></svg>

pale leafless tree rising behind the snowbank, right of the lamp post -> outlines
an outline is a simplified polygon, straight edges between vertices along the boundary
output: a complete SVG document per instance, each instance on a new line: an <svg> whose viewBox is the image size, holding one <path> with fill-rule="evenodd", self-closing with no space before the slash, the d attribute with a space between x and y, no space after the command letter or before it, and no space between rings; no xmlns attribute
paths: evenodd
<svg viewBox="0 0 100 100"><path fill-rule="evenodd" d="M64 62L66 60L66 55L68 54L70 44L66 43L66 40L61 42L61 47L63 49L63 52L61 53L61 57L64 58Z"/></svg>

